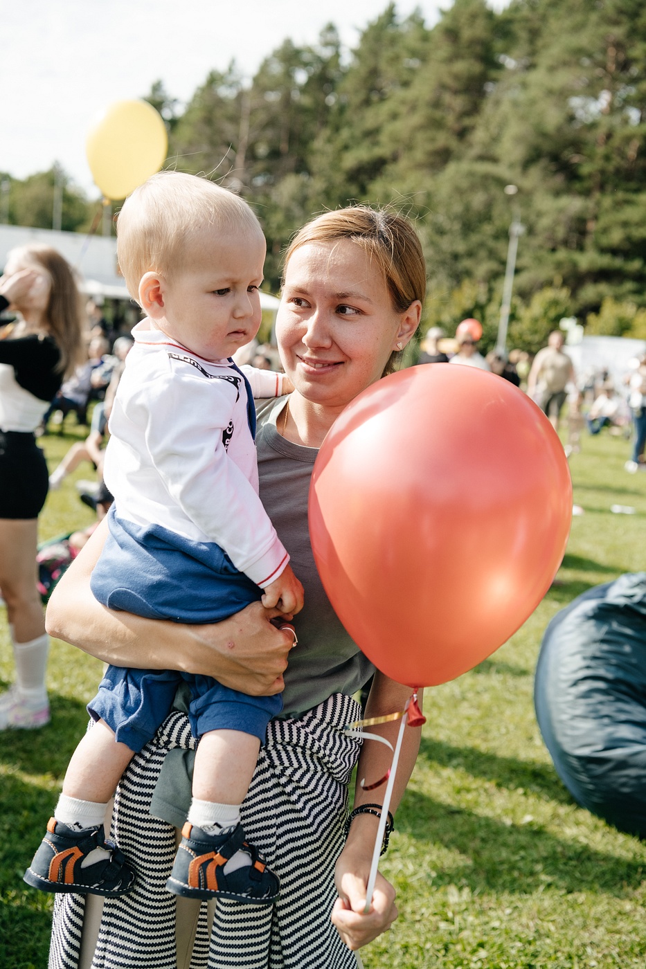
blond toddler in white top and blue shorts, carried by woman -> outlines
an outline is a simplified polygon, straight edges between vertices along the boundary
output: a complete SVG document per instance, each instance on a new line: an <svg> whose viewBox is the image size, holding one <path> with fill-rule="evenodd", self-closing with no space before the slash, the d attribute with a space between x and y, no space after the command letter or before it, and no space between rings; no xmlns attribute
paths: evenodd
<svg viewBox="0 0 646 969"><path fill-rule="evenodd" d="M303 587L258 497L253 396L288 391L279 374L232 355L256 335L266 243L249 206L194 175L161 172L123 205L119 266L147 319L133 329L110 419L104 479L110 535L92 574L105 606L214 622L254 600L285 614ZM262 590L262 591L261 591ZM102 821L133 752L188 683L199 738L193 800L167 888L272 901L278 880L240 824L279 697L249 697L207 676L109 668L88 710L63 794L25 881L44 891L116 895L135 873Z"/></svg>

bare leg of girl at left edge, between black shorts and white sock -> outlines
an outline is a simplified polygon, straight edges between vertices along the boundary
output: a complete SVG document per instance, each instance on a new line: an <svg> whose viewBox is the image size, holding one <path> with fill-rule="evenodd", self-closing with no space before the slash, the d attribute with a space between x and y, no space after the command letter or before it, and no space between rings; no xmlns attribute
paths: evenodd
<svg viewBox="0 0 646 969"><path fill-rule="evenodd" d="M45 635L43 605L36 588L37 518L0 518L0 589L16 642Z"/></svg>

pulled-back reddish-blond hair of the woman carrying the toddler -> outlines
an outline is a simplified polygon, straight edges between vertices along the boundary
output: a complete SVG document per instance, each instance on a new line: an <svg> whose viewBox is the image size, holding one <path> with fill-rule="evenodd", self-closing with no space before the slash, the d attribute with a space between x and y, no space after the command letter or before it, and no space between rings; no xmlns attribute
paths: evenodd
<svg viewBox="0 0 646 969"><path fill-rule="evenodd" d="M294 236L285 253L283 266L297 249L309 243L337 242L346 239L361 246L374 260L397 313L404 313L416 299L426 297L426 262L422 244L412 224L398 212L370 205L349 205L323 212ZM394 353L386 363L384 375L391 373L401 358Z"/></svg>

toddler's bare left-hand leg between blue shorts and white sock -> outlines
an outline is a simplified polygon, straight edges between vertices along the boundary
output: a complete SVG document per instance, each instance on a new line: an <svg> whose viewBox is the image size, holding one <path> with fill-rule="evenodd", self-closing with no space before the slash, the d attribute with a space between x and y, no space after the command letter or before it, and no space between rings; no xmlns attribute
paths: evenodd
<svg viewBox="0 0 646 969"><path fill-rule="evenodd" d="M110 727L99 720L72 755L63 781L63 794L106 803L113 797L121 774L132 760L133 751L118 743Z"/></svg>

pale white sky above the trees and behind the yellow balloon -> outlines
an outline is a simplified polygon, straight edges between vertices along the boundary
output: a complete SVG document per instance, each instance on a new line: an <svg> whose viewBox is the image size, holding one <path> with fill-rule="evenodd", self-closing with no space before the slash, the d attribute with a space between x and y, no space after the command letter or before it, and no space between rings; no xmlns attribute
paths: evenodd
<svg viewBox="0 0 646 969"><path fill-rule="evenodd" d="M505 0L491 0L500 9ZM332 21L341 43L387 0L0 0L0 172L24 178L59 162L94 196L85 159L93 118L113 101L143 97L155 80L187 101L232 59L249 78L289 37L314 44ZM428 26L450 0L399 0Z"/></svg>

